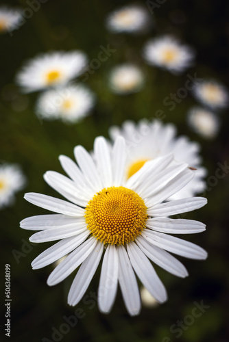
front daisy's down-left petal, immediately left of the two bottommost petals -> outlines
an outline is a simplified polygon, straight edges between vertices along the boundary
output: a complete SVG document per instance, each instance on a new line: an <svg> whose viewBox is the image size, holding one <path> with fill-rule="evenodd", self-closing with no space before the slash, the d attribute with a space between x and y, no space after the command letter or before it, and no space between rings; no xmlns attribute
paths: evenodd
<svg viewBox="0 0 229 342"><path fill-rule="evenodd" d="M70 305L76 305L82 299L99 265L103 250L104 244L97 241L96 246L93 248L93 252L91 252L80 266L69 291L68 303Z"/></svg>

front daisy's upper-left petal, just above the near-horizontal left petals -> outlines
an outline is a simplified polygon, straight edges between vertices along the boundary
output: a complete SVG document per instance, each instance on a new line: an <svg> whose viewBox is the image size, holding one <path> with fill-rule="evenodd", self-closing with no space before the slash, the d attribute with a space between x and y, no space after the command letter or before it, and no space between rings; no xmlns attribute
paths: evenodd
<svg viewBox="0 0 229 342"><path fill-rule="evenodd" d="M50 187L59 192L62 196L81 207L86 207L90 197L84 196L84 188L76 187L71 179L55 171L47 171L44 179Z"/></svg>

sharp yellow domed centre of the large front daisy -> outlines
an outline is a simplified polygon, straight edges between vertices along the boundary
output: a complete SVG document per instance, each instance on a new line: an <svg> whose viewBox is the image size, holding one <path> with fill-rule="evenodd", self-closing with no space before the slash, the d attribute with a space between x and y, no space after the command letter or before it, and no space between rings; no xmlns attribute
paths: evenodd
<svg viewBox="0 0 229 342"><path fill-rule="evenodd" d="M86 206L87 228L104 244L124 245L141 234L147 207L136 192L126 187L108 187Z"/></svg>

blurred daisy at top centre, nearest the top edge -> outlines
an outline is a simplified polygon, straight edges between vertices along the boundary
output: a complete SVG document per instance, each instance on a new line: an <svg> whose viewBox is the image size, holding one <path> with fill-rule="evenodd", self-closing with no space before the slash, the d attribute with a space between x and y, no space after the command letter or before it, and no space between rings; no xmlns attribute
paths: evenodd
<svg viewBox="0 0 229 342"><path fill-rule="evenodd" d="M147 31L152 17L140 5L128 5L108 15L106 27L111 32L141 33Z"/></svg>

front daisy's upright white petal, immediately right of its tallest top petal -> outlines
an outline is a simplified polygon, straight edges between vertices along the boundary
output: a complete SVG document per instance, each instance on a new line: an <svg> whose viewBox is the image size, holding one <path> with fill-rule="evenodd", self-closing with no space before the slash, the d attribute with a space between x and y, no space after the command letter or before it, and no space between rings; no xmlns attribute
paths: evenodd
<svg viewBox="0 0 229 342"><path fill-rule="evenodd" d="M112 153L113 182L114 186L118 187L122 185L125 173L126 149L123 137L117 137Z"/></svg>

